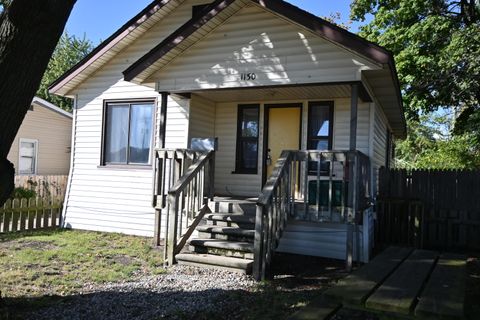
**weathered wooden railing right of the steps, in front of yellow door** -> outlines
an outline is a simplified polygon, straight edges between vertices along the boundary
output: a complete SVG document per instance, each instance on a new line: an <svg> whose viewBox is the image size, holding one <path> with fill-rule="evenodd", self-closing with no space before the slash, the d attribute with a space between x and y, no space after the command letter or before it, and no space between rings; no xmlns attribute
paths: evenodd
<svg viewBox="0 0 480 320"><path fill-rule="evenodd" d="M253 276L265 279L288 219L360 223L370 196L361 152L283 151L257 201Z"/></svg>

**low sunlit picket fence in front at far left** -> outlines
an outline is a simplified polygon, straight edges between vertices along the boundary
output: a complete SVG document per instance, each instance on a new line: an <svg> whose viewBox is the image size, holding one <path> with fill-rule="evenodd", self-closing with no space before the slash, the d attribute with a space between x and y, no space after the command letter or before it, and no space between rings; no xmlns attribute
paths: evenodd
<svg viewBox="0 0 480 320"><path fill-rule="evenodd" d="M62 202L42 198L10 199L0 207L0 233L56 228Z"/></svg>

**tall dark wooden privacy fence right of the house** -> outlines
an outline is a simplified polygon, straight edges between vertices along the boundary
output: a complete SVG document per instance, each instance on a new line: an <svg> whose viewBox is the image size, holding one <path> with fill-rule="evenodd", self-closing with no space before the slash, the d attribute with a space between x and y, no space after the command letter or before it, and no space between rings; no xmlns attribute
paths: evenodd
<svg viewBox="0 0 480 320"><path fill-rule="evenodd" d="M480 171L380 169L377 239L480 250Z"/></svg>

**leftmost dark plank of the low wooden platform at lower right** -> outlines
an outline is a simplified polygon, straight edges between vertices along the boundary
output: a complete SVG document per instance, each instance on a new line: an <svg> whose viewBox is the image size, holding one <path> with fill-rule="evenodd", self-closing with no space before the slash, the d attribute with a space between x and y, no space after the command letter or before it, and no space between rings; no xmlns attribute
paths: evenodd
<svg viewBox="0 0 480 320"><path fill-rule="evenodd" d="M413 249L408 248L389 247L370 263L328 289L325 296L346 305L363 306L377 286L392 274L412 251Z"/></svg>

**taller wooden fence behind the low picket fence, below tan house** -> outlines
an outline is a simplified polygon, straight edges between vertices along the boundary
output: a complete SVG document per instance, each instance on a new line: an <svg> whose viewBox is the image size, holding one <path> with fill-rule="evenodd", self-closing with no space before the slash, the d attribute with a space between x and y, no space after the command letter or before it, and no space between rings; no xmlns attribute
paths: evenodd
<svg viewBox="0 0 480 320"><path fill-rule="evenodd" d="M63 200L68 176L15 176L15 187L33 190L43 199Z"/></svg>

